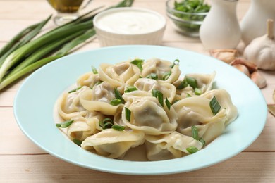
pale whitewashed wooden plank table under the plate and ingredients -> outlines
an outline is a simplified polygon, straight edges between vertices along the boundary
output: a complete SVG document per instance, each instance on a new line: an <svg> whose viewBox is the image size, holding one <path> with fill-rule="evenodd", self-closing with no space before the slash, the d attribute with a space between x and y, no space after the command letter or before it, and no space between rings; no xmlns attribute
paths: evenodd
<svg viewBox="0 0 275 183"><path fill-rule="evenodd" d="M118 1L94 0L91 8ZM165 15L164 0L135 0L133 6ZM238 2L239 20L249 6L250 0ZM24 27L51 13L54 10L46 0L0 0L0 47ZM173 30L169 20L167 23L162 45L209 54L200 39L184 37ZM48 27L53 26L51 21ZM80 51L98 47L94 39ZM275 72L261 72L268 83L262 94L267 103L274 103L271 95L275 89ZM262 134L250 147L217 165L176 175L113 175L66 163L42 151L25 137L13 116L13 100L23 80L0 92L0 182L275 182L275 118L270 114Z"/></svg>

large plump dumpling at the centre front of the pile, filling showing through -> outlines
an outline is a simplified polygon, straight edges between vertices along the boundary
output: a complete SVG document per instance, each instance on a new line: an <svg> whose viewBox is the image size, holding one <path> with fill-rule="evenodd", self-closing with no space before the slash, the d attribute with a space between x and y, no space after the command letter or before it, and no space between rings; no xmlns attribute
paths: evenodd
<svg viewBox="0 0 275 183"><path fill-rule="evenodd" d="M123 124L133 130L145 134L167 134L176 130L176 113L173 108L162 107L153 96L133 96L125 104L130 110L130 121L126 118L126 108L123 108L121 118Z"/></svg>

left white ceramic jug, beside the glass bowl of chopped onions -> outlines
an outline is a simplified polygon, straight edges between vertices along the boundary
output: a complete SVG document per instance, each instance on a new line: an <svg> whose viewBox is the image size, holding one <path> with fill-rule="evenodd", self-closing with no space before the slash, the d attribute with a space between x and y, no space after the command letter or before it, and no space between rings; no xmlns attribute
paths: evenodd
<svg viewBox="0 0 275 183"><path fill-rule="evenodd" d="M205 49L235 49L241 32L236 15L238 0L211 0L211 9L200 27Z"/></svg>

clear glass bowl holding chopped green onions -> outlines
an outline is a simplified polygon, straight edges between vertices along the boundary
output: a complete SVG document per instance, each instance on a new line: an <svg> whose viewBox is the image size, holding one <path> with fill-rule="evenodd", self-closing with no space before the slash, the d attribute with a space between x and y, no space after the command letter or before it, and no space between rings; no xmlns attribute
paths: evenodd
<svg viewBox="0 0 275 183"><path fill-rule="evenodd" d="M177 11L173 8L174 2L175 0L166 1L166 15L173 21L176 30L190 37L199 37L200 25L202 25L208 12L187 13Z"/></svg>

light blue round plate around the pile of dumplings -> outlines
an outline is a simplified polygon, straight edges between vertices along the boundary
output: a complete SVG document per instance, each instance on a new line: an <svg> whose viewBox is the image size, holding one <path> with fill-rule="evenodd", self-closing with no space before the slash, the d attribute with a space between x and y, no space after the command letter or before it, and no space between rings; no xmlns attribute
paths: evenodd
<svg viewBox="0 0 275 183"><path fill-rule="evenodd" d="M216 71L216 87L226 89L238 108L238 118L224 134L201 151L183 158L156 162L133 162L97 156L73 144L54 125L54 103L91 65L118 63L129 58L178 58L185 73ZM267 119L267 105L258 87L235 68L209 56L164 46L114 46L75 53L34 72L20 87L14 114L21 130L37 146L69 163L94 170L127 175L161 175L188 172L236 156L252 144Z"/></svg>

